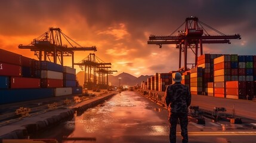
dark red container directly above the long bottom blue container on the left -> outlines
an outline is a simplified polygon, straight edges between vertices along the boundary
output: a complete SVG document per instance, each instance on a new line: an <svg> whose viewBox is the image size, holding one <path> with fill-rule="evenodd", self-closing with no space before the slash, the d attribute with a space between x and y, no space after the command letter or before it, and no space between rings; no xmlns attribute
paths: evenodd
<svg viewBox="0 0 256 143"><path fill-rule="evenodd" d="M11 88L40 88L40 79L11 77Z"/></svg>

